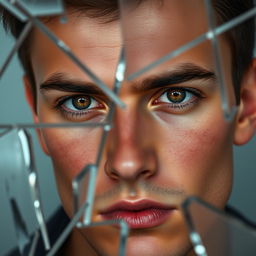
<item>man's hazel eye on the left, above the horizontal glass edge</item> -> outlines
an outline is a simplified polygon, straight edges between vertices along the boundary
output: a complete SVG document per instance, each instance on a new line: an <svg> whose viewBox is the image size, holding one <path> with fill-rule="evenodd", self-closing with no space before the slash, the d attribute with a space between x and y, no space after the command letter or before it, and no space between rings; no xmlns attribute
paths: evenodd
<svg viewBox="0 0 256 256"><path fill-rule="evenodd" d="M105 114L106 110L105 105L89 95L64 97L58 101L56 108L70 121L87 121Z"/></svg>

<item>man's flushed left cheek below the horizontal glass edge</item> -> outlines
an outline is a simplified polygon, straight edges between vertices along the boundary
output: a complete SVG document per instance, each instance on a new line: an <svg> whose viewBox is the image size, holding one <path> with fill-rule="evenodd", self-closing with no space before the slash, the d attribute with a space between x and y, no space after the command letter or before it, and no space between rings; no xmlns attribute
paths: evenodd
<svg viewBox="0 0 256 256"><path fill-rule="evenodd" d="M43 131L59 195L69 215L72 212L72 180L87 164L95 163L101 133L99 128L51 128Z"/></svg>

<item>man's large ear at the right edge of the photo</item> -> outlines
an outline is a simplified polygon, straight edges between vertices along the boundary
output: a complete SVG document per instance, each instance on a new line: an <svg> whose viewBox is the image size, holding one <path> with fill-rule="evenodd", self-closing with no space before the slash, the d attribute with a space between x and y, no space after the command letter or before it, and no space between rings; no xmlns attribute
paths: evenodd
<svg viewBox="0 0 256 256"><path fill-rule="evenodd" d="M240 99L234 135L236 145L247 143L256 131L256 59L242 80Z"/></svg>

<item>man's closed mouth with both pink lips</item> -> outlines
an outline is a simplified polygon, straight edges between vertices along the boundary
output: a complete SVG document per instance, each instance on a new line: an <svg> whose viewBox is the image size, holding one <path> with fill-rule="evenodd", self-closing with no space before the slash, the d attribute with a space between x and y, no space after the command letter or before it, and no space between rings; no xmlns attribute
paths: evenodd
<svg viewBox="0 0 256 256"><path fill-rule="evenodd" d="M100 212L104 220L123 220L130 229L153 228L163 224L176 210L150 200L120 201Z"/></svg>

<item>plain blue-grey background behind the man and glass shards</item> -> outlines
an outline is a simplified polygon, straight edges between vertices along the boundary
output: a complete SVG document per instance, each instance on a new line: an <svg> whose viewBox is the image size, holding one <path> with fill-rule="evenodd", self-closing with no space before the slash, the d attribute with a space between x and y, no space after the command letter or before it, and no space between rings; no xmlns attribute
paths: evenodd
<svg viewBox="0 0 256 256"><path fill-rule="evenodd" d="M13 45L13 40L7 37L0 26L0 65ZM15 57L0 80L0 122L32 122L30 110L24 100L22 86L22 70ZM35 154L40 175L43 207L48 218L59 205L55 189L50 159L41 152L35 139ZM234 148L235 180L230 204L238 208L246 217L256 222L256 138L243 147ZM1 152L0 152L1 154ZM1 171L1 166L0 166ZM1 183L0 173L0 185ZM0 194L0 255L16 244L13 221L4 193Z"/></svg>

